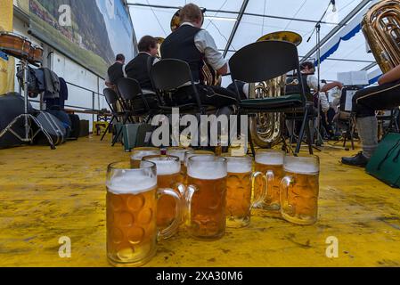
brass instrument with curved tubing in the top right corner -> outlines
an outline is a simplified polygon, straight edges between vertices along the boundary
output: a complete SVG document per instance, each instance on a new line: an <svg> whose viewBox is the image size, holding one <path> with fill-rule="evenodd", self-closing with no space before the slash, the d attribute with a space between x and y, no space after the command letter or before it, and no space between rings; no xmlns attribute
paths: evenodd
<svg viewBox="0 0 400 285"><path fill-rule="evenodd" d="M400 64L400 1L382 0L363 18L363 34L383 73Z"/></svg>

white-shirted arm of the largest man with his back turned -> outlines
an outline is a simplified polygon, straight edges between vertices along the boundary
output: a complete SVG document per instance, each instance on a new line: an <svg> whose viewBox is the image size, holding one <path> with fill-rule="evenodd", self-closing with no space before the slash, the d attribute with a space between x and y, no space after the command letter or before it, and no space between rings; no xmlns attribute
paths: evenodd
<svg viewBox="0 0 400 285"><path fill-rule="evenodd" d="M194 43L200 53L203 53L206 60L213 69L218 72L219 75L225 75L228 73L228 64L224 60L222 53L218 51L214 38L205 29L200 32L194 38Z"/></svg>

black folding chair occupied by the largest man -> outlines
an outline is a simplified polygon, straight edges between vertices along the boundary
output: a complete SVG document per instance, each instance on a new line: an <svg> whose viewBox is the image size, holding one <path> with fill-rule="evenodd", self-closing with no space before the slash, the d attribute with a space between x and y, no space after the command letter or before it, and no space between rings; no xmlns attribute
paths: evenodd
<svg viewBox="0 0 400 285"><path fill-rule="evenodd" d="M205 113L206 107L201 105L199 91L194 85L192 71L185 61L175 59L159 61L151 67L150 74L151 83L157 90L161 102L163 102L162 98L164 96L175 94L180 87L189 84L192 86L195 103L177 104L174 107L160 103L160 110L171 113L173 108L177 108L186 113Z"/></svg>

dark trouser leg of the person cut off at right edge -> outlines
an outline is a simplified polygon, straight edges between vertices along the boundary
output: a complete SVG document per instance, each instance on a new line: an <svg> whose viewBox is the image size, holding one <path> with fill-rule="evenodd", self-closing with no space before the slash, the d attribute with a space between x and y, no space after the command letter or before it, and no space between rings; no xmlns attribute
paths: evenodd
<svg viewBox="0 0 400 285"><path fill-rule="evenodd" d="M376 110L392 110L400 106L400 80L365 88L353 97L353 112L357 118L375 116Z"/></svg>

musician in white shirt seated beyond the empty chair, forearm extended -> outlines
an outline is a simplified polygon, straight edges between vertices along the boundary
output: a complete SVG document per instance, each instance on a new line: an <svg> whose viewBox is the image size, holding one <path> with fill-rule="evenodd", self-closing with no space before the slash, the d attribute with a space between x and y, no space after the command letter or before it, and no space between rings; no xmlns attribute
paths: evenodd
<svg viewBox="0 0 400 285"><path fill-rule="evenodd" d="M312 90L314 90L314 92L316 92L316 94L320 94L325 96L325 98L322 98L322 102L326 102L326 95L325 93L327 93L328 91L330 91L333 88L339 88L340 90L343 88L343 85L338 82L338 81L333 81L331 83L326 83L326 81L320 81L319 85L318 85L318 78L314 76L314 72L315 72L315 67L313 62L311 61L305 61L300 65L300 72L301 72L301 78L303 80L304 83L306 83L304 85L304 89L306 92L307 96L310 96L310 100L311 100L311 94L312 94ZM318 87L320 89L320 92L318 92ZM286 93L290 94L290 93L298 93L298 85L287 85L286 86ZM328 109L324 109L324 110L329 110ZM322 110L323 111L323 110ZM324 115L325 117L325 115ZM293 120L286 120L286 126L288 128L288 131L290 133L290 136L292 136L294 130L293 130Z"/></svg>

